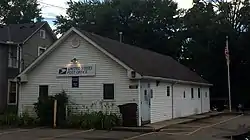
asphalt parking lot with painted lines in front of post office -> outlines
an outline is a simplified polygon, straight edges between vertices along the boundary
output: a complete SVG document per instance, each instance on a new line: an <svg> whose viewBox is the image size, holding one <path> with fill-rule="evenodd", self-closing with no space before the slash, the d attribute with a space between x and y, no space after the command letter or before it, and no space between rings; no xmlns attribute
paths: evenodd
<svg viewBox="0 0 250 140"><path fill-rule="evenodd" d="M140 133L102 130L8 129L0 130L1 140L223 140L222 135L248 124L250 116L226 115L188 124L173 125L160 132ZM250 124L249 124L250 125Z"/></svg>

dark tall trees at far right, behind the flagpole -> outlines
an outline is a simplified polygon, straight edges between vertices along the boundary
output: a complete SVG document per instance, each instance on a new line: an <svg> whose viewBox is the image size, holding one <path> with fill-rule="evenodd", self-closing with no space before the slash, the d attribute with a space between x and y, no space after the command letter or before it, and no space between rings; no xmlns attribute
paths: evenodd
<svg viewBox="0 0 250 140"><path fill-rule="evenodd" d="M227 67L224 57L225 39L229 36L231 87L233 99L250 100L249 19L247 0L195 0L184 17L185 58L182 62L202 73L214 84L214 96L227 97ZM239 94L241 96L239 96Z"/></svg>

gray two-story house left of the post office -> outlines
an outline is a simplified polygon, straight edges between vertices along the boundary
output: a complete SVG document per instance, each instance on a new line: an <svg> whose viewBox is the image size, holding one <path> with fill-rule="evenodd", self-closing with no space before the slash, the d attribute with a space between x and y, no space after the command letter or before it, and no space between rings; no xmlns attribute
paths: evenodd
<svg viewBox="0 0 250 140"><path fill-rule="evenodd" d="M14 77L56 40L47 22L0 25L0 113L17 104Z"/></svg>

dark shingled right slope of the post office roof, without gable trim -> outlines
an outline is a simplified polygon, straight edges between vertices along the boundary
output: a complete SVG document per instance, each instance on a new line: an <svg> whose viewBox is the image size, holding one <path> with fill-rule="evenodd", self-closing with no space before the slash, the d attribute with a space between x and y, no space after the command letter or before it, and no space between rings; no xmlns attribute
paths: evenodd
<svg viewBox="0 0 250 140"><path fill-rule="evenodd" d="M209 83L170 56L120 43L119 41L88 33L86 31L81 32L114 57L143 76Z"/></svg>

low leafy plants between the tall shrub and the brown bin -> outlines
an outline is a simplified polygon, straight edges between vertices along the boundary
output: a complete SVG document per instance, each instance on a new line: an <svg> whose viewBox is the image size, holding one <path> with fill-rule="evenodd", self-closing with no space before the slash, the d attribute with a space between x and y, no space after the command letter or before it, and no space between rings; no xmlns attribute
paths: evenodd
<svg viewBox="0 0 250 140"><path fill-rule="evenodd" d="M116 114L107 114L102 111L72 114L68 117L67 122L71 128L82 129L111 129L121 124Z"/></svg>

